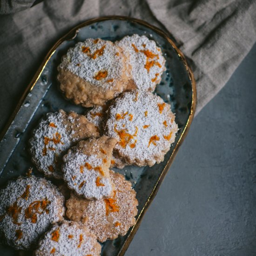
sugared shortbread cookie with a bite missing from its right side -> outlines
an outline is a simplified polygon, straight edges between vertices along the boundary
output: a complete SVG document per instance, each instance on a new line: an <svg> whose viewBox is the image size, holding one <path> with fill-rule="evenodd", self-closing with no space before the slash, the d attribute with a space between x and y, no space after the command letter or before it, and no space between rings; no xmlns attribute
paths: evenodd
<svg viewBox="0 0 256 256"><path fill-rule="evenodd" d="M80 141L63 157L63 179L67 186L89 200L108 198L115 187L109 177L112 151L117 140L102 136Z"/></svg>

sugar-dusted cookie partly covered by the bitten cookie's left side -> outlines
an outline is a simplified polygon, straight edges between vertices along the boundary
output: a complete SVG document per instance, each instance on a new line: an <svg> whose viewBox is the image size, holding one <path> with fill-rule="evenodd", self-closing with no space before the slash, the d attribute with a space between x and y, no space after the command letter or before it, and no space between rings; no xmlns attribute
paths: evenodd
<svg viewBox="0 0 256 256"><path fill-rule="evenodd" d="M98 135L95 125L83 115L63 110L48 113L29 140L32 161L45 175L60 179L63 153L76 141Z"/></svg>

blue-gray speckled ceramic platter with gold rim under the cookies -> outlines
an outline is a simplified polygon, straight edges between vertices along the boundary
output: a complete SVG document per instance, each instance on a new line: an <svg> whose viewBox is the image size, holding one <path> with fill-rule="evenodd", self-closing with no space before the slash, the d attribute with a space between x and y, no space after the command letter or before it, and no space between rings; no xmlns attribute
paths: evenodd
<svg viewBox="0 0 256 256"><path fill-rule="evenodd" d="M115 171L125 175L126 179L132 182L139 202L138 215L135 226L129 229L126 236L119 236L115 240L107 240L102 243L102 256L124 255L192 122L196 101L195 80L183 54L174 42L160 29L133 18L113 16L82 23L52 47L0 135L1 187L9 179L25 175L28 168L33 168L33 174L41 175L30 161L27 150L27 141L32 129L47 112L62 108L65 111L73 110L83 114L86 109L66 101L58 91L56 76L61 56L67 52L69 47L73 47L77 42L87 38L115 41L132 34L146 35L149 39L155 40L157 45L162 48L166 58L166 71L162 75L162 81L157 85L155 93L161 96L165 102L171 104L179 131L175 143L160 164L155 164L151 168L135 166L128 166L122 170L114 168ZM15 252L12 248L1 244L0 254L7 256L14 255Z"/></svg>

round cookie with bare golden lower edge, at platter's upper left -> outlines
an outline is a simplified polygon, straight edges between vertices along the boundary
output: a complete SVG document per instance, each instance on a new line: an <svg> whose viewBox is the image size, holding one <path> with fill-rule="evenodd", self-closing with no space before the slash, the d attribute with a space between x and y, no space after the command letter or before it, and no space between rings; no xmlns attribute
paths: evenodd
<svg viewBox="0 0 256 256"><path fill-rule="evenodd" d="M126 87L131 66L111 41L87 39L67 51L58 67L61 91L84 107L104 105Z"/></svg>

